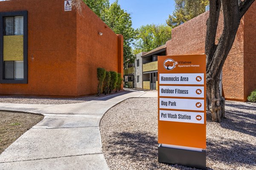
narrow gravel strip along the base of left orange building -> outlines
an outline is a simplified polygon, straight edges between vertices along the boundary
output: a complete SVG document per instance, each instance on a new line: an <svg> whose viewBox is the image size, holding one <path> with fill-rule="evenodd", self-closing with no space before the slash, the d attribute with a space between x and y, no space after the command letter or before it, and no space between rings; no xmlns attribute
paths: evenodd
<svg viewBox="0 0 256 170"><path fill-rule="evenodd" d="M99 96L84 96L78 98L47 98L47 97L28 97L28 96L0 96L0 103L15 103L15 104L36 104L36 105L61 105L71 103L82 103L91 100L100 99L105 96L119 94L125 91L112 92L111 94L101 94Z"/></svg>

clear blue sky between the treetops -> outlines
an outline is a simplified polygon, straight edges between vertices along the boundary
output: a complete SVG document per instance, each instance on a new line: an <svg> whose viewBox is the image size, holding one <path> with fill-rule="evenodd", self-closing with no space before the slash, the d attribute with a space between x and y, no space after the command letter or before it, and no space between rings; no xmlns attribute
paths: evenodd
<svg viewBox="0 0 256 170"><path fill-rule="evenodd" d="M110 4L115 0L109 0ZM147 24L166 24L175 9L174 0L119 0L121 8L131 14L133 28Z"/></svg>

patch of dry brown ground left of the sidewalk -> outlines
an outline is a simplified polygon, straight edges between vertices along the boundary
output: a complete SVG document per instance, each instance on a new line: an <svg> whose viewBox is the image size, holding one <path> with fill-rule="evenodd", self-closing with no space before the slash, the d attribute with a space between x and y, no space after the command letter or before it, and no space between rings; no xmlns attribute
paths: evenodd
<svg viewBox="0 0 256 170"><path fill-rule="evenodd" d="M28 113L0 112L0 154L23 133L44 119Z"/></svg>

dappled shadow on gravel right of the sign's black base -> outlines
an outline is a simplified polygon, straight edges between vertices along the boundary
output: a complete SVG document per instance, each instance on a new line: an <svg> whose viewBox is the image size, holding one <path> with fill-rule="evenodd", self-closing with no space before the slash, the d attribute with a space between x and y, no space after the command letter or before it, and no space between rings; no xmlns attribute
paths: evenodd
<svg viewBox="0 0 256 170"><path fill-rule="evenodd" d="M207 159L256 165L256 146L238 140L207 140Z"/></svg>

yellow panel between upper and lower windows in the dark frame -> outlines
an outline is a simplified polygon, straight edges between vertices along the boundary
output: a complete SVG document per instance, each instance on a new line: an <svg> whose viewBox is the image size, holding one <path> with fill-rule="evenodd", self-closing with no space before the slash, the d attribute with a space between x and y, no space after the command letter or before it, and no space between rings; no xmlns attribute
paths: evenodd
<svg viewBox="0 0 256 170"><path fill-rule="evenodd" d="M3 60L23 60L23 35L3 36Z"/></svg>

